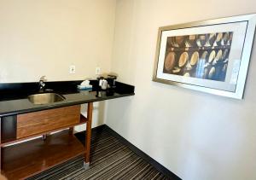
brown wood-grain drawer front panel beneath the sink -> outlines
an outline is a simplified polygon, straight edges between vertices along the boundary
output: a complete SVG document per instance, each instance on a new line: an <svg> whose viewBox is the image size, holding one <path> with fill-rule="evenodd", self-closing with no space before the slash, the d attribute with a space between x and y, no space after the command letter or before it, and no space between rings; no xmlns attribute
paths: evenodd
<svg viewBox="0 0 256 180"><path fill-rule="evenodd" d="M80 121L80 105L60 107L17 116L17 139L52 131Z"/></svg>

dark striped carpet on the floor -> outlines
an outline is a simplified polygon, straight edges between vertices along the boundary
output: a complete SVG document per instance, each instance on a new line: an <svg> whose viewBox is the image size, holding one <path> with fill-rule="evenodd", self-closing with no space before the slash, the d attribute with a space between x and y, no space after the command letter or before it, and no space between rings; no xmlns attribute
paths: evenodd
<svg viewBox="0 0 256 180"><path fill-rule="evenodd" d="M76 136L84 142L84 133ZM80 156L29 179L171 179L132 152L108 128L92 131L90 151L89 170L84 170Z"/></svg>

